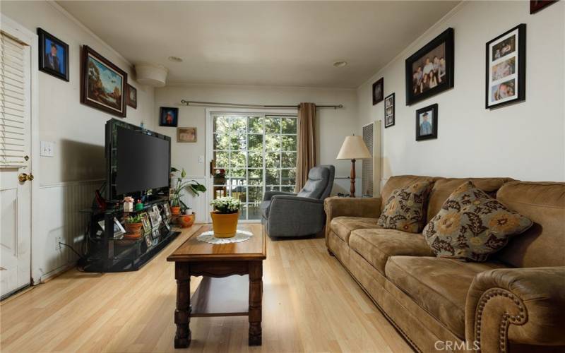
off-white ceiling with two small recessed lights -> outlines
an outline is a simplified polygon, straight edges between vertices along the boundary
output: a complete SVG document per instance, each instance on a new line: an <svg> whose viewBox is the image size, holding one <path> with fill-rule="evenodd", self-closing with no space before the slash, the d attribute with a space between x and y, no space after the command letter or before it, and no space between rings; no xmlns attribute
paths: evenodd
<svg viewBox="0 0 565 353"><path fill-rule="evenodd" d="M357 88L458 1L57 3L167 83Z"/></svg>

